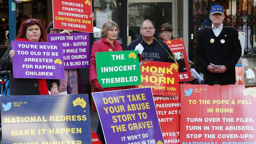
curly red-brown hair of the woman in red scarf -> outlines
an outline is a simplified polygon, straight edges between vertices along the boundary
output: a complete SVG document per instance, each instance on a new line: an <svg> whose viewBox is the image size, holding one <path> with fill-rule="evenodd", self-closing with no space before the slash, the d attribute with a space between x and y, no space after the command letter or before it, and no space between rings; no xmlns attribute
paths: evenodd
<svg viewBox="0 0 256 144"><path fill-rule="evenodd" d="M28 18L22 22L22 24L20 25L20 29L19 29L17 38L26 37L26 31L27 31L28 27L33 26L33 25L39 26L40 31L41 31L40 38L43 39L44 41L46 41L46 35L47 35L46 30L43 27L43 25L41 24L41 20L35 19L35 18Z"/></svg>

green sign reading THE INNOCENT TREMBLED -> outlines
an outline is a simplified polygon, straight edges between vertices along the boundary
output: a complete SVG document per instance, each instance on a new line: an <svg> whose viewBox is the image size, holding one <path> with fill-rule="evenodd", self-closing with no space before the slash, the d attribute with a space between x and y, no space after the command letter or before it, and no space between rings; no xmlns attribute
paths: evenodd
<svg viewBox="0 0 256 144"><path fill-rule="evenodd" d="M141 84L137 50L96 52L98 82L102 87L121 87Z"/></svg>

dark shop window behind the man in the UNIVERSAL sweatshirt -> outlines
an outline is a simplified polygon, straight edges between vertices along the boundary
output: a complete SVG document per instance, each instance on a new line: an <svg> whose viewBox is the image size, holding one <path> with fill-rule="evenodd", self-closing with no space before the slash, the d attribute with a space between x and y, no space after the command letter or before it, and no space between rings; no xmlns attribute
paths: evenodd
<svg viewBox="0 0 256 144"><path fill-rule="evenodd" d="M128 2L128 35L131 41L139 37L139 29L143 20L154 22L156 33L161 24L168 22L173 25L172 2Z"/></svg>

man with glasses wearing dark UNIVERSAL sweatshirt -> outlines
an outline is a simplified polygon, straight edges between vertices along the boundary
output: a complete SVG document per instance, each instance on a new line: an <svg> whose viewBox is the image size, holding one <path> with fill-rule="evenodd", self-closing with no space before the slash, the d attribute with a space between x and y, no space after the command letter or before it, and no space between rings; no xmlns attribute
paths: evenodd
<svg viewBox="0 0 256 144"><path fill-rule="evenodd" d="M139 38L132 41L125 50L135 50L135 47L141 44L144 48L141 54L143 60L175 63L170 48L165 42L159 40L155 31L153 22L144 20L141 23Z"/></svg>

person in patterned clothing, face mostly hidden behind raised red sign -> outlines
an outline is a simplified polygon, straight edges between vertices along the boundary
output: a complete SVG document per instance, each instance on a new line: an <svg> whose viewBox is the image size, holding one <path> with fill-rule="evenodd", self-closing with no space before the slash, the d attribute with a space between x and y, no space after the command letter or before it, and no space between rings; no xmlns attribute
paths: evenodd
<svg viewBox="0 0 256 144"><path fill-rule="evenodd" d="M94 20L94 14L89 16ZM70 36L71 30L61 30L53 28L53 22L50 22L46 28L47 33L67 33ZM60 79L59 92L68 94L78 94L78 71L79 69L65 69L65 79Z"/></svg>

